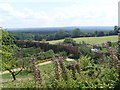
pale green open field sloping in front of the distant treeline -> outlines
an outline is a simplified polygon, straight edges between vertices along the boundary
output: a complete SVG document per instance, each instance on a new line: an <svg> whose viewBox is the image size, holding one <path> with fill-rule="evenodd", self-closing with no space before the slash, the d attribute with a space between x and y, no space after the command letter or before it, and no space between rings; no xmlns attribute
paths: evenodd
<svg viewBox="0 0 120 90"><path fill-rule="evenodd" d="M64 39L49 41L50 44L56 44L59 42L63 42ZM101 44L106 43L108 41L116 42L118 40L118 36L104 36L104 37L82 37L82 38L74 38L77 43L84 41L87 44Z"/></svg>

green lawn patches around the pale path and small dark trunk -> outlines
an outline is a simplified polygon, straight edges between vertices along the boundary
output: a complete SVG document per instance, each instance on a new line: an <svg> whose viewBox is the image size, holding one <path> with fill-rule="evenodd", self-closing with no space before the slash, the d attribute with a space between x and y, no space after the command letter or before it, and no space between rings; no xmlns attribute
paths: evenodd
<svg viewBox="0 0 120 90"><path fill-rule="evenodd" d="M65 61L65 64L73 63L75 61ZM54 64L49 63L46 65L37 66L41 70L42 79L46 82L50 82L54 78ZM36 88L34 83L33 75L31 73L26 73L23 70L20 74L16 76L17 80L12 82L13 78L10 73L2 74L2 88ZM51 77L50 77L51 76ZM40 88L40 87L39 87Z"/></svg>

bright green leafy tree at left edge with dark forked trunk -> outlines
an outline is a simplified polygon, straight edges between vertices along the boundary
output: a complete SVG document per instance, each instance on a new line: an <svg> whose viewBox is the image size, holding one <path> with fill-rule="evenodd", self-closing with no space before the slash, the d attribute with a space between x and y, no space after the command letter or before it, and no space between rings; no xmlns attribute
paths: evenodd
<svg viewBox="0 0 120 90"><path fill-rule="evenodd" d="M10 36L7 31L2 30L2 71L8 70L13 79L16 80L16 75L18 75L20 71L15 73L13 71L14 68L17 68L17 58L14 56L14 50L17 50L17 46L14 44L14 38Z"/></svg>

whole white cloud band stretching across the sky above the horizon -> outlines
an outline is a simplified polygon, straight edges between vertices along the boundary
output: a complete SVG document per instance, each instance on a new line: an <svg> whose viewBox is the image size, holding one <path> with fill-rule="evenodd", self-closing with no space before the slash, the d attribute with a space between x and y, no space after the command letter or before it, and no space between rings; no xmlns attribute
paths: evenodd
<svg viewBox="0 0 120 90"><path fill-rule="evenodd" d="M34 11L32 8L15 10L7 3L0 4L2 27L45 27L45 26L99 26L117 24L117 5L84 6L73 4L56 7L51 12Z"/></svg>

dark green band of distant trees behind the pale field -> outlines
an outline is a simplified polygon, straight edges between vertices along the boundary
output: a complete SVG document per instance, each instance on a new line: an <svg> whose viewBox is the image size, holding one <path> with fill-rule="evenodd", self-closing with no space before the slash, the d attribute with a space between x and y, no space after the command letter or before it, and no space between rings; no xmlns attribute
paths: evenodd
<svg viewBox="0 0 120 90"><path fill-rule="evenodd" d="M114 31L94 31L94 32L82 32L79 28L73 29L71 32L65 30L59 30L57 32L25 32L25 31L9 31L16 40L35 40L41 41L43 39L50 40L59 40L66 37L100 37L100 36L110 36L117 35L117 26L114 26Z"/></svg>

